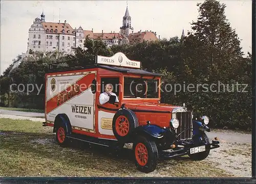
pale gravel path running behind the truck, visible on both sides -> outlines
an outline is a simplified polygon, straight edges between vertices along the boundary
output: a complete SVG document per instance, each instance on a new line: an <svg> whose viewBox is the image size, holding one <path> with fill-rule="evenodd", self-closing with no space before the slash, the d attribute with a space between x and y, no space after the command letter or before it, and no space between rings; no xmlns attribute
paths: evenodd
<svg viewBox="0 0 256 184"><path fill-rule="evenodd" d="M39 113L38 113L39 114ZM44 118L0 114L0 118L27 119L44 122ZM236 177L251 177L251 134L231 130L213 130L207 133L209 140L219 138L220 147L212 149L205 161L216 164L216 168L225 170Z"/></svg>

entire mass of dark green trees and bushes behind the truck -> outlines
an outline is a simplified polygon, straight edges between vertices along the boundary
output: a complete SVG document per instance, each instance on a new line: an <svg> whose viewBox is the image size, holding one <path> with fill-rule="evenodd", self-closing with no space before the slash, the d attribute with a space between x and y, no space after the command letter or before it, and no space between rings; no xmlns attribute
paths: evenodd
<svg viewBox="0 0 256 184"><path fill-rule="evenodd" d="M134 45L106 46L101 40L88 37L83 48L76 48L75 55L63 55L62 52L29 51L29 56L20 63L18 68L10 72L13 64L22 59L19 55L0 77L1 94L6 96L11 83L45 84L45 73L48 65L55 62L67 62L69 66L94 65L95 56L113 56L123 52L131 60L141 61L142 68L148 71L162 73L161 102L194 109L195 115L208 115L210 126L228 128L251 127L251 55L244 57L240 40L230 27L225 17L225 5L215 0L207 0L198 4L199 16L191 23L191 32L187 37L173 37L154 42L143 41ZM12 81L11 81L12 80ZM204 91L202 86L223 83L229 85L248 84L248 92ZM187 88L174 93L176 84L188 86L193 84L197 92L189 92ZM170 90L172 85L173 90ZM165 86L167 88L165 89ZM216 90L218 87L212 88ZM239 90L242 90L240 86ZM40 94L37 91L30 95L15 93L16 106L43 109L45 86ZM30 101L27 103L27 101ZM34 104L32 106L31 104Z"/></svg>

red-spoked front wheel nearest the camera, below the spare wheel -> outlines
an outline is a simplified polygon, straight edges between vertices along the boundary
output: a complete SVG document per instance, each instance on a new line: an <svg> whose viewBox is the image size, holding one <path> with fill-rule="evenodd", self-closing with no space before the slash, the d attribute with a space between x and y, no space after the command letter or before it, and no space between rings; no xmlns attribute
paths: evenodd
<svg viewBox="0 0 256 184"><path fill-rule="evenodd" d="M152 172L157 167L158 150L156 143L144 137L138 137L133 144L135 154L135 165L139 171Z"/></svg>

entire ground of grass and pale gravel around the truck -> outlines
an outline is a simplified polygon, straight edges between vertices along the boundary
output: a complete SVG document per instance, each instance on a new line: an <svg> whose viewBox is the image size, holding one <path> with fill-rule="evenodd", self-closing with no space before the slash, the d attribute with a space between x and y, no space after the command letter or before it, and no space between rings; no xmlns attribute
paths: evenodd
<svg viewBox="0 0 256 184"><path fill-rule="evenodd" d="M63 148L56 144L51 127L42 127L39 118L5 115L0 119L1 176L123 176L123 177L250 177L251 134L230 130L206 133L219 138L220 148L203 161L188 156L160 160L155 171L139 172L133 163L132 144L119 152L74 142ZM13 119L13 120L12 120ZM23 119L23 120L18 120ZM27 126L27 127L26 127ZM29 130L30 128L30 130ZM77 146L78 145L78 146ZM63 154L65 153L65 154Z"/></svg>

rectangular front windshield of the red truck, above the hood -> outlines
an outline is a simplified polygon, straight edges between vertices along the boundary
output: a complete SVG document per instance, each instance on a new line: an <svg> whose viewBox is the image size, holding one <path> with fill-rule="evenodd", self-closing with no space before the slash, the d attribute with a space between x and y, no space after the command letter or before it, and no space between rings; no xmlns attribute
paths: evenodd
<svg viewBox="0 0 256 184"><path fill-rule="evenodd" d="M124 98L158 98L158 80L124 77Z"/></svg>

